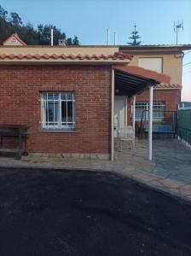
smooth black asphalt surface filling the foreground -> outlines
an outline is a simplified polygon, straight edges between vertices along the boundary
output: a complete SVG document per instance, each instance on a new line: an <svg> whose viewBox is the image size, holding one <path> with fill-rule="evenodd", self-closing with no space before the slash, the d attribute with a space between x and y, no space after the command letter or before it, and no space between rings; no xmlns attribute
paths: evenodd
<svg viewBox="0 0 191 256"><path fill-rule="evenodd" d="M0 255L191 255L191 205L111 172L0 168Z"/></svg>

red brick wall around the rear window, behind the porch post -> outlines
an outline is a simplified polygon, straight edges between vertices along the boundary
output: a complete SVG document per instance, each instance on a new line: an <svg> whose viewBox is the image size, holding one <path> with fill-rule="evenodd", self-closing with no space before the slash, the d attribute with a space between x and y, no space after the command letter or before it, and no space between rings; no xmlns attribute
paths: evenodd
<svg viewBox="0 0 191 256"><path fill-rule="evenodd" d="M142 94L136 96L136 102L149 102L149 91L146 90ZM181 90L153 90L153 102L165 102L165 111L177 111L178 103L181 102ZM130 122L132 99L128 104L128 121Z"/></svg>

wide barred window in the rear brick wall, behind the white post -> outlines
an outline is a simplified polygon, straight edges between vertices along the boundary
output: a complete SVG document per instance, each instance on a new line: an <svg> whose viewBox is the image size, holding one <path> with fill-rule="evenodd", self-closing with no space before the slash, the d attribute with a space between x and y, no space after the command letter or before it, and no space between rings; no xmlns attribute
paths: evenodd
<svg viewBox="0 0 191 256"><path fill-rule="evenodd" d="M136 120L148 119L149 102L136 102ZM165 102L153 102L153 120L165 117Z"/></svg>

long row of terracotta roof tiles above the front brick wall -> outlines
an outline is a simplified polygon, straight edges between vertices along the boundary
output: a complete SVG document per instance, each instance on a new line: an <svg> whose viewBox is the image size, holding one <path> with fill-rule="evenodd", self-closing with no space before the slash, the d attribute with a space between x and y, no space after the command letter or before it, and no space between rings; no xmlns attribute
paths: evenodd
<svg viewBox="0 0 191 256"><path fill-rule="evenodd" d="M127 54L123 54L123 53L119 53L119 52L115 52L113 55L56 55L56 54L52 54L52 55L48 55L48 54L43 54L43 55L39 55L39 54L20 54L20 55L14 55L14 54L10 54L10 55L0 55L0 59L1 60L5 60L5 59L9 59L9 60L14 60L14 59L19 59L19 60L23 60L23 59L27 59L27 60L31 60L31 59L36 59L36 60L40 60L40 59L45 59L45 60L49 60L49 59L54 59L54 60L131 60L133 56L132 55L127 55Z"/></svg>

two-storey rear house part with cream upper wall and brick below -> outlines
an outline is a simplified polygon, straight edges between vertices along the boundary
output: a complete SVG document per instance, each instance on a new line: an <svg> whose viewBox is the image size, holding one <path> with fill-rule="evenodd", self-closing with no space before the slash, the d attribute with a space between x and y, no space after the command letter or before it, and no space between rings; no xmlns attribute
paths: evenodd
<svg viewBox="0 0 191 256"><path fill-rule="evenodd" d="M138 45L120 46L119 51L133 55L130 66L144 67L171 77L170 83L160 83L153 88L153 120L164 118L164 114L177 111L181 102L183 50L190 45ZM120 92L119 92L120 93ZM142 111L148 110L149 94L144 90L136 96L136 122L142 119ZM131 104L128 103L128 120L131 117Z"/></svg>

